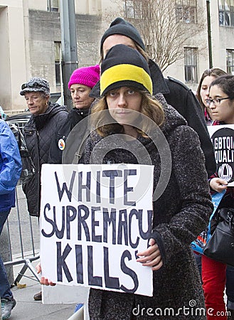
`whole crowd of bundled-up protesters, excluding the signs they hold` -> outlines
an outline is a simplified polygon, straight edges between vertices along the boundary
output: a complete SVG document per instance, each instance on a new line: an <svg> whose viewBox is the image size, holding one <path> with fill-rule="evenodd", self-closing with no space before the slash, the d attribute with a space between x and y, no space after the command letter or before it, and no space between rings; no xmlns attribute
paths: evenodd
<svg viewBox="0 0 234 320"><path fill-rule="evenodd" d="M218 176L207 126L234 124L234 76L219 68L204 71L195 96L178 80L164 78L156 62L147 56L137 29L122 18L112 21L103 34L100 54L100 65L78 68L70 76L70 112L65 106L50 102L47 80L34 77L21 86L20 95L31 112L23 135L35 168L34 174L23 182L28 212L40 217L42 164L63 163L67 139L74 129L79 130L79 123L87 115L95 129L87 137L78 161L142 164L142 157L137 156L141 144L154 165L155 189L162 166L159 150L151 139L155 128L148 120L151 119L164 134L171 153L169 182L153 202L149 247L137 256L139 264L153 270L153 297L91 288L90 319L234 319L234 267L196 255L190 246L208 225L213 210L212 192L227 189L220 207L233 208L232 188ZM97 112L99 117L95 116ZM11 129L0 121L1 233L14 206L21 161ZM13 145L9 148L11 153L2 147L4 139L9 140L7 146ZM73 163L76 149L77 145L66 163ZM11 165L6 166L5 161ZM41 277L41 284L55 285L46 277ZM8 319L16 301L1 257L0 294L2 319ZM41 300L41 292L34 299ZM205 312L153 318L149 314L134 316L132 312L138 305L144 310L189 308L191 301Z"/></svg>

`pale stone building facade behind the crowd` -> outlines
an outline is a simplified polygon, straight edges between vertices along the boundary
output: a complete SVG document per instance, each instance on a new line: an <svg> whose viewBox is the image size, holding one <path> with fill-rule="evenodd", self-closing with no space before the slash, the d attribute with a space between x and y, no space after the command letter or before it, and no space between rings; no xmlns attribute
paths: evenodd
<svg viewBox="0 0 234 320"><path fill-rule="evenodd" d="M147 1L150 4L150 0L75 0L78 66L99 63L100 38L116 16L140 29L145 15L152 16L152 6L148 4L145 9ZM166 67L164 76L177 78L196 90L203 70L210 65L234 75L234 0L173 3L174 19L181 25L184 40L176 45L180 55ZM33 76L46 78L50 91L60 92L60 1L0 0L0 29L0 105L6 113L25 110L19 91ZM191 36L186 36L188 30ZM154 49L150 40L145 43ZM162 47L162 52L171 49Z"/></svg>

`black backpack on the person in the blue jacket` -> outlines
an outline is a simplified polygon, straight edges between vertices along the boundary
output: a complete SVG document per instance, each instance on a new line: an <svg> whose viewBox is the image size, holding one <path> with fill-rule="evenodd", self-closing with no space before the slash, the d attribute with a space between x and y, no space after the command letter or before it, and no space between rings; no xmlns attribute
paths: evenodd
<svg viewBox="0 0 234 320"><path fill-rule="evenodd" d="M28 176L32 176L35 173L35 167L33 165L33 161L31 156L28 152L25 139L21 132L21 129L18 128L16 124L12 124L11 122L7 122L11 131L14 133L16 141L18 142L18 149L21 155L21 162L22 162L22 171L21 176L19 178L18 183L22 184L23 181L28 178Z"/></svg>

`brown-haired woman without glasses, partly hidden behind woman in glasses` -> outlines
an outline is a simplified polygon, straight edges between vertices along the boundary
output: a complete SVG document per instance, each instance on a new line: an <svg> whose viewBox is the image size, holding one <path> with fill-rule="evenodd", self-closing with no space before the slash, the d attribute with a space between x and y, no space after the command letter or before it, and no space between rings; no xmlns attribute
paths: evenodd
<svg viewBox="0 0 234 320"><path fill-rule="evenodd" d="M206 100L209 97L209 89L211 82L216 78L220 77L220 75L226 75L225 71L219 68L206 69L201 75L201 80L198 84L198 89L196 92L196 97L200 102L201 108L205 114L206 124L213 124L213 120L211 119L211 110L206 103Z"/></svg>

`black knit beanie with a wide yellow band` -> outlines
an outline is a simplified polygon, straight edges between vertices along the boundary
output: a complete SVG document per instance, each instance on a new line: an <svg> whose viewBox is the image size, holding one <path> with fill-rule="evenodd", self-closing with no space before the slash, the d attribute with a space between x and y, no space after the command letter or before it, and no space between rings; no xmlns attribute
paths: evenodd
<svg viewBox="0 0 234 320"><path fill-rule="evenodd" d="M119 44L112 47L101 64L100 95L119 87L134 87L152 94L149 65L132 48Z"/></svg>

